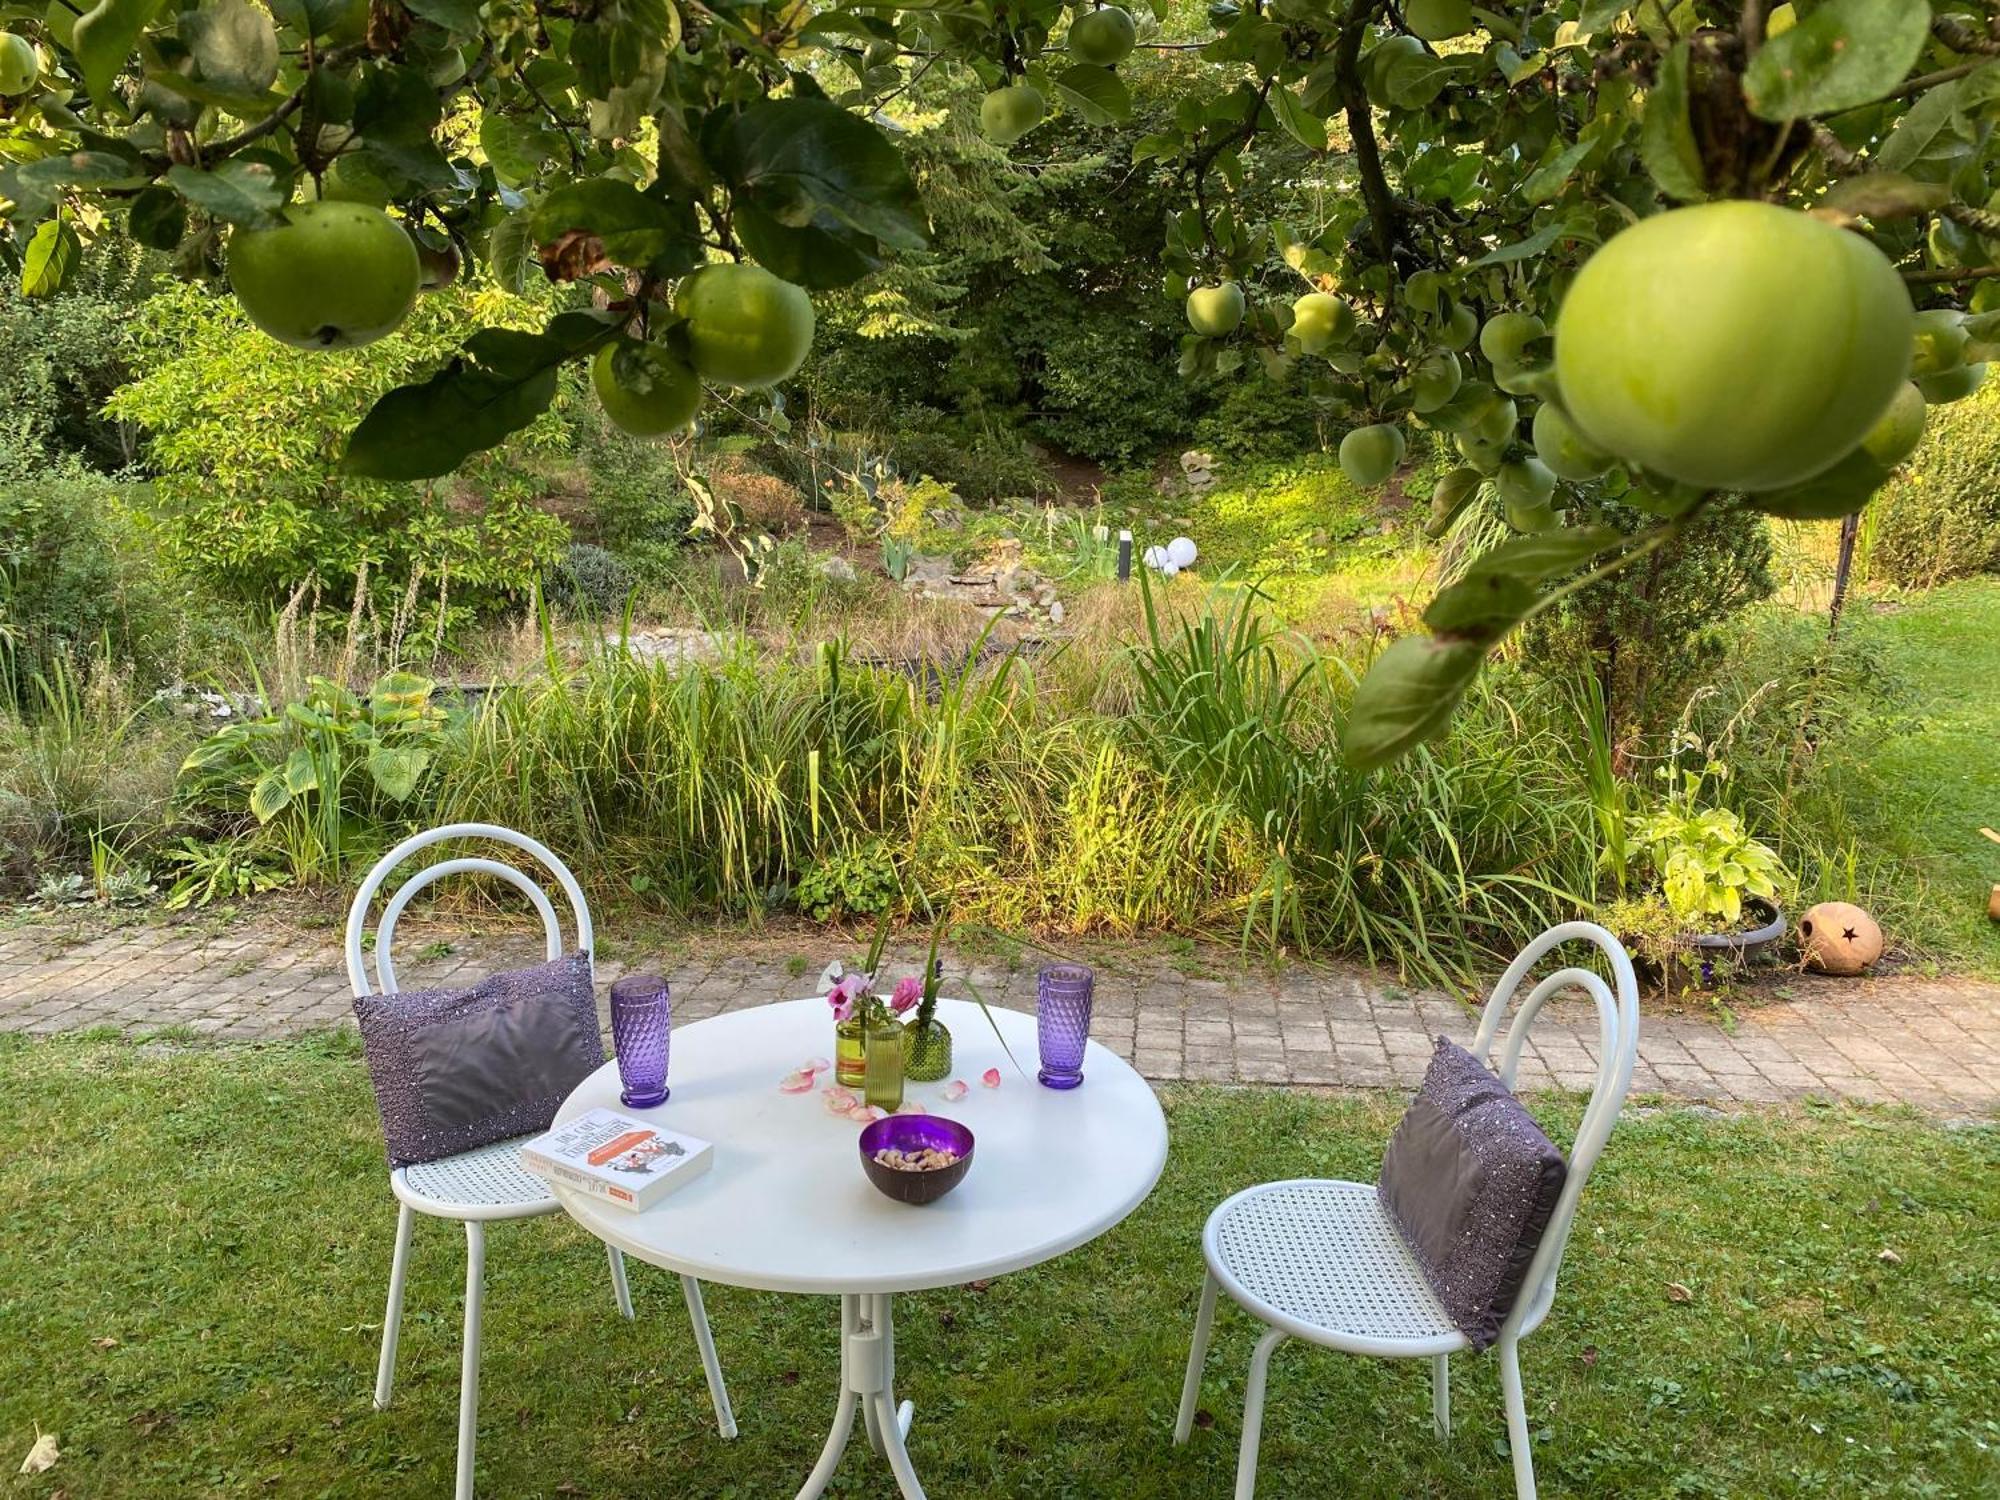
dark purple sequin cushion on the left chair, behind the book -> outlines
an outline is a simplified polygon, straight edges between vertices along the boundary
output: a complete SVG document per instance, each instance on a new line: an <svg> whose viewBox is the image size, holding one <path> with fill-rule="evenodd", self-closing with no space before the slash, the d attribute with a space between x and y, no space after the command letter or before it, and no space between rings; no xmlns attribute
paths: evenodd
<svg viewBox="0 0 2000 1500"><path fill-rule="evenodd" d="M354 1002L390 1166L546 1130L604 1066L584 954L492 974L468 990Z"/></svg>

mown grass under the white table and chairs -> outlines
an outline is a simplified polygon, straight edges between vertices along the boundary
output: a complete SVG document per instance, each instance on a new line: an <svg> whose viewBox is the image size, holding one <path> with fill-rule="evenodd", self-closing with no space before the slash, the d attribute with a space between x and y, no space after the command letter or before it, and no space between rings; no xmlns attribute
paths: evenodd
<svg viewBox="0 0 2000 1500"><path fill-rule="evenodd" d="M440 1494L462 1238L422 1222L398 1400L368 1402L394 1206L346 1034L248 1048L0 1038L0 1454L62 1462L0 1494ZM1174 1090L1174 1152L1110 1236L1046 1268L904 1300L898 1354L934 1494L1224 1496L1252 1326L1224 1314L1212 1426L1168 1444L1230 1190L1372 1176L1398 1104ZM1548 1100L1558 1138L1574 1100ZM726 1166L722 1168L726 1170ZM1586 1196L1556 1314L1524 1348L1546 1496L1974 1496L2000 1486L2000 1134L1856 1110L1634 1110ZM832 1408L822 1300L710 1288L742 1436L718 1442L672 1282L612 1312L564 1220L488 1260L480 1492L790 1494ZM1892 1252L1892 1254L1884 1254ZM1686 1288L1686 1298L1672 1288ZM1490 1360L1458 1434L1426 1370L1288 1348L1268 1494L1510 1492ZM886 1500L856 1444L836 1494Z"/></svg>

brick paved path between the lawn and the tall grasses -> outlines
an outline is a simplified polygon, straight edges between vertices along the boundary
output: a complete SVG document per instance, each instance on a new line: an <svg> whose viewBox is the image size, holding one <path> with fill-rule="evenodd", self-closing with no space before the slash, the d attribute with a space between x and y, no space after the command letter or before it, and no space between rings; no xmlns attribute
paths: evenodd
<svg viewBox="0 0 2000 1500"><path fill-rule="evenodd" d="M0 932L0 1030L190 1028L258 1040L352 1024L338 932L318 922L8 928ZM1232 952L1168 948L1074 948L1098 966L1092 1034L1154 1080L1408 1088L1422 1076L1430 1036L1470 1040L1468 1006L1366 970L1268 968ZM410 920L398 940L406 986L466 980L538 956L532 934L512 928ZM676 1014L700 1018L808 994L830 956L826 940L812 934L730 934L676 938L644 952L608 942L598 968L602 980L628 966L660 968L674 980ZM900 968L922 962L920 952L898 958ZM988 1000L1034 1008L1042 954L968 962ZM2000 1112L2000 986L1796 976L1784 992L1740 1010L1734 1028L1702 1010L1648 1014L1634 1090L1718 1104L1816 1094L1944 1114ZM1588 1088L1594 1058L1596 1012L1564 1002L1536 1026L1522 1082Z"/></svg>

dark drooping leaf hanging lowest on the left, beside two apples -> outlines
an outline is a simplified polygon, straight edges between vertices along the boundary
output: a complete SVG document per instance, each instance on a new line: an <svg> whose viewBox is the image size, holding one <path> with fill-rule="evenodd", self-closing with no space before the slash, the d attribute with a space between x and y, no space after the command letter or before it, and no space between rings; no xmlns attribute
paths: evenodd
<svg viewBox="0 0 2000 1500"><path fill-rule="evenodd" d="M546 412L562 362L616 334L616 320L588 312L552 318L540 334L482 328L430 380L382 396L348 438L342 468L374 480L450 474Z"/></svg>

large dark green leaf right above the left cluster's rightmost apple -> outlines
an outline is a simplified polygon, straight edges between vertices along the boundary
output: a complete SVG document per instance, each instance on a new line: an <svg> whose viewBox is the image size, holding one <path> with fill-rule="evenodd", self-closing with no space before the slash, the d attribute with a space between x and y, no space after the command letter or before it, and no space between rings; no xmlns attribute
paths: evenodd
<svg viewBox="0 0 2000 1500"><path fill-rule="evenodd" d="M924 202L882 130L822 98L764 100L722 116L708 160L778 224L804 228L818 210L894 250L930 242Z"/></svg>

